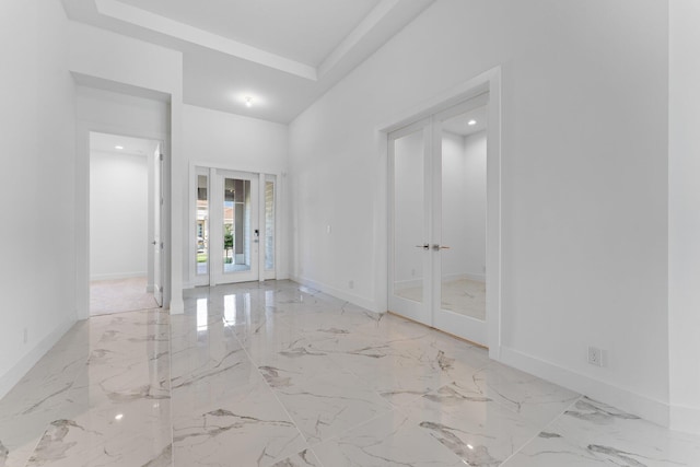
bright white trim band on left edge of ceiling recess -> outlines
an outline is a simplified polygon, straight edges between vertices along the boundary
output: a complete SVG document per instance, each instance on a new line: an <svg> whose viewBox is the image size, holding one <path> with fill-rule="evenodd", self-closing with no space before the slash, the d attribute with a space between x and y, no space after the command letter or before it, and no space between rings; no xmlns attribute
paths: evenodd
<svg viewBox="0 0 700 467"><path fill-rule="evenodd" d="M307 80L316 81L318 79L316 68L308 65L290 60L289 58L261 50L257 47L253 47L237 40L222 37L218 34L190 26L116 0L95 0L95 5L100 14L115 20L131 23L156 33L165 34L201 47L275 68Z"/></svg>

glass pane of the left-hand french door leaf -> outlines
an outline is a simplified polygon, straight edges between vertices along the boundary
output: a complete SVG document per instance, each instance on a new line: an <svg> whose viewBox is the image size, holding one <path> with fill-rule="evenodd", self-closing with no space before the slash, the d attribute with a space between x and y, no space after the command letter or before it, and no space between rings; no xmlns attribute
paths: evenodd
<svg viewBox="0 0 700 467"><path fill-rule="evenodd" d="M394 294L423 302L423 131L394 141Z"/></svg>

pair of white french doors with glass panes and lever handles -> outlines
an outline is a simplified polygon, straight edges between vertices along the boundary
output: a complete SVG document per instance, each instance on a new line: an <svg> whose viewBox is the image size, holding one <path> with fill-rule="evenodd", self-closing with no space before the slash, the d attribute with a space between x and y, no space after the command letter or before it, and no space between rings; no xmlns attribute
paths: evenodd
<svg viewBox="0 0 700 467"><path fill-rule="evenodd" d="M388 136L389 311L488 346L488 93Z"/></svg>

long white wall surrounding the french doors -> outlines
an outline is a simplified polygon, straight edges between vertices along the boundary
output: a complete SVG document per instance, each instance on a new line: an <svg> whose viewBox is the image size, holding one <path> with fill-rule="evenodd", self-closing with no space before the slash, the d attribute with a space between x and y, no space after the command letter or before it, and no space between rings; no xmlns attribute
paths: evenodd
<svg viewBox="0 0 700 467"><path fill-rule="evenodd" d="M386 310L377 129L501 66L502 359L667 421L667 13L435 2L291 124L294 276Z"/></svg>

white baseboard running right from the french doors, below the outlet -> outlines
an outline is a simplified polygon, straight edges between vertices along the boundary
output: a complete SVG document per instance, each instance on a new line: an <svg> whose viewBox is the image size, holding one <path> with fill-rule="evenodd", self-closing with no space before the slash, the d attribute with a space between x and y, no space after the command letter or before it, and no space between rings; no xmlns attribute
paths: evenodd
<svg viewBox="0 0 700 467"><path fill-rule="evenodd" d="M500 350L500 361L502 363L663 427L669 425L668 404L642 396L604 381L572 372L565 367L527 355L508 347L501 347Z"/></svg>

